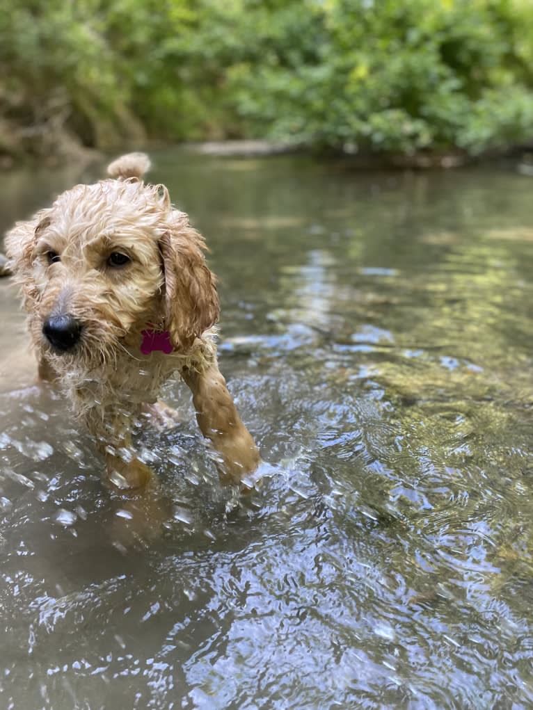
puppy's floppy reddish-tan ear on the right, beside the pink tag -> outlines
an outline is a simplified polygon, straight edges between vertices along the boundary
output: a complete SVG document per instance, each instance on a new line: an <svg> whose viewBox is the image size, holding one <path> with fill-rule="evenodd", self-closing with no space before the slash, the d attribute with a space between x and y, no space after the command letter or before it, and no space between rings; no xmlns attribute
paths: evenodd
<svg viewBox="0 0 533 710"><path fill-rule="evenodd" d="M215 275L205 263L203 236L185 219L163 234L159 244L165 275L166 328L174 348L183 351L218 320Z"/></svg>

